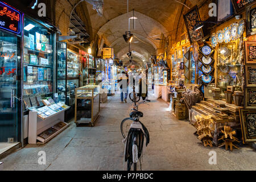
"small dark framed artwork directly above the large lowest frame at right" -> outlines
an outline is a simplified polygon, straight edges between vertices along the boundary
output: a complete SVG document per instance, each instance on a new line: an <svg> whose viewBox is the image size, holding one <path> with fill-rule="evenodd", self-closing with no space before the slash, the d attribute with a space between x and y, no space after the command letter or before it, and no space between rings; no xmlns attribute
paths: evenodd
<svg viewBox="0 0 256 182"><path fill-rule="evenodd" d="M256 109L256 88L245 88L245 109Z"/></svg>

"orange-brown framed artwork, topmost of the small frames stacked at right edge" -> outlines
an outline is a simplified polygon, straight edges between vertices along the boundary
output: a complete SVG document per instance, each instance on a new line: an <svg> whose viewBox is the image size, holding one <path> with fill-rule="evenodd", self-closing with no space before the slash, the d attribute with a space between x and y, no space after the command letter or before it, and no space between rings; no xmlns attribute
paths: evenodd
<svg viewBox="0 0 256 182"><path fill-rule="evenodd" d="M245 41L245 64L256 64L256 41Z"/></svg>

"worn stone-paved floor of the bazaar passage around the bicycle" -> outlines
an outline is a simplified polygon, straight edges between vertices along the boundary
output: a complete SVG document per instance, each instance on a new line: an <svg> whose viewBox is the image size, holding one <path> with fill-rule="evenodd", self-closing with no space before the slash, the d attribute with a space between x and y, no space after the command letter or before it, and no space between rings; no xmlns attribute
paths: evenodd
<svg viewBox="0 0 256 182"><path fill-rule="evenodd" d="M121 104L119 95L101 104L94 127L76 127L71 122L57 137L44 145L30 145L1 160L5 170L123 170L122 118L129 115L130 104ZM141 105L141 121L150 132L150 144L143 152L143 170L255 170L256 151L203 147L187 121L177 120L163 100ZM46 152L46 165L38 164L38 152ZM216 151L217 164L208 155Z"/></svg>

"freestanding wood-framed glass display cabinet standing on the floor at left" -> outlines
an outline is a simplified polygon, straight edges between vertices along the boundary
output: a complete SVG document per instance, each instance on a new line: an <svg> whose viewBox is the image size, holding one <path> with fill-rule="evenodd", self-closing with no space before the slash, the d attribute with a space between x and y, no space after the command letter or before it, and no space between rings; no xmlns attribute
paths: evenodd
<svg viewBox="0 0 256 182"><path fill-rule="evenodd" d="M75 123L94 126L100 113L100 86L86 85L76 88Z"/></svg>

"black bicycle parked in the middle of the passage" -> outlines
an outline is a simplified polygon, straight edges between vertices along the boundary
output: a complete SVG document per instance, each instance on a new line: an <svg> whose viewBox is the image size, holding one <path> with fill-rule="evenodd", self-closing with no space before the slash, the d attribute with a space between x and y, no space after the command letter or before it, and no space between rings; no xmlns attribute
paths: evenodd
<svg viewBox="0 0 256 182"><path fill-rule="evenodd" d="M147 131L147 128L143 125L139 118L143 117L143 113L138 110L139 105L145 104L146 101L142 101L137 105L135 98L135 86L133 87L133 102L134 107L131 109L130 117L123 119L121 122L121 133L124 138L123 142L125 142L125 162L127 162L127 171L131 170L131 166L134 164L134 171L137 171L137 163L138 159L141 161L141 155L143 150L144 137L146 137L146 146L150 142L150 136ZM130 129L126 134L123 130L123 126L127 121L132 122L130 124ZM127 128L126 128L127 129Z"/></svg>

